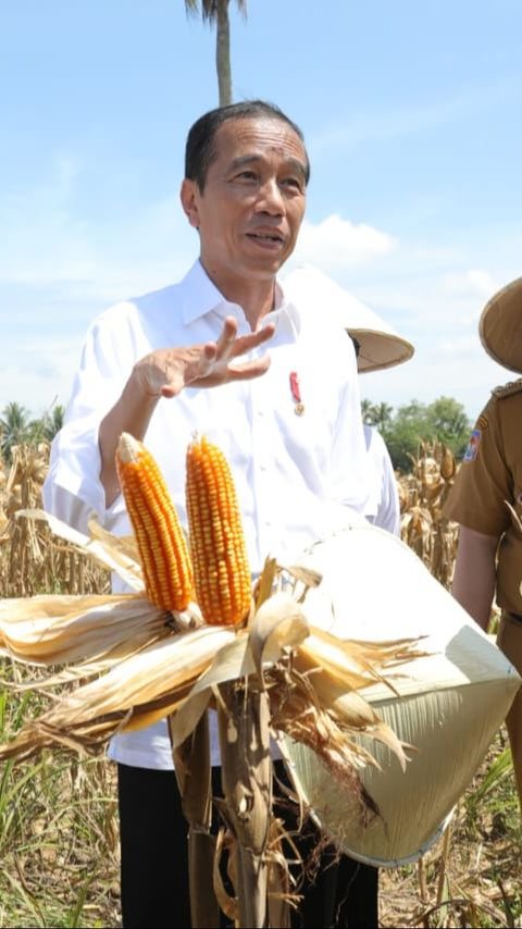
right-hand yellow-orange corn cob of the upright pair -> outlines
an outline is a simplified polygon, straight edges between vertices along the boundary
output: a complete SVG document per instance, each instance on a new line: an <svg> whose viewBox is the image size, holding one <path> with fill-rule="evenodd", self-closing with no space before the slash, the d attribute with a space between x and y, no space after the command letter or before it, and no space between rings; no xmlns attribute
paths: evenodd
<svg viewBox="0 0 522 929"><path fill-rule="evenodd" d="M250 610L251 582L236 488L222 450L204 436L187 449L187 513L203 619L240 623Z"/></svg>

